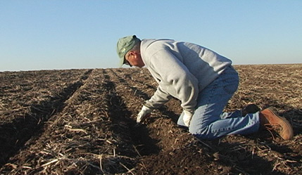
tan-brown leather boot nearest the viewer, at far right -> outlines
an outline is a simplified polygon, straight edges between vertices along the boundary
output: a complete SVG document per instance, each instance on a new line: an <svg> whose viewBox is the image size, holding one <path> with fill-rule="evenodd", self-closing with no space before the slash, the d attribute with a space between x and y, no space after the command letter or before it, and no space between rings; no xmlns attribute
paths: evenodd
<svg viewBox="0 0 302 175"><path fill-rule="evenodd" d="M260 127L275 131L284 140L293 138L294 131L291 124L284 117L277 115L275 108L266 108L259 113Z"/></svg>

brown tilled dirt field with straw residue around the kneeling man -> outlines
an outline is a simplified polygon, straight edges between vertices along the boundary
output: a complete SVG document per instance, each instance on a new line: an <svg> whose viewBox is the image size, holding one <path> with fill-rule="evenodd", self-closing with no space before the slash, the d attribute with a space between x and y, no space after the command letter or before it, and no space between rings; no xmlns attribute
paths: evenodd
<svg viewBox="0 0 302 175"><path fill-rule="evenodd" d="M227 111L275 106L294 127L199 141L172 99L137 126L156 91L145 68L0 72L0 174L302 174L302 65L236 65Z"/></svg>

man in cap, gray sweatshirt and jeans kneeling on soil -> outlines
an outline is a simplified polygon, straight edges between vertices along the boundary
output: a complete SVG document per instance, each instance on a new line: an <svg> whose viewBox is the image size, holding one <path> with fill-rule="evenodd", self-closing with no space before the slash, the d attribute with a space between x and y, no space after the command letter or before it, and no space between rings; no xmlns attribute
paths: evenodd
<svg viewBox="0 0 302 175"><path fill-rule="evenodd" d="M183 112L177 124L201 139L227 134L252 134L260 128L276 131L284 140L293 137L291 124L274 108L258 112L255 105L235 112L222 112L237 91L239 76L232 61L208 48L171 39L143 39L135 35L118 40L120 66L144 67L158 88L137 116L143 122L154 108L175 97Z"/></svg>

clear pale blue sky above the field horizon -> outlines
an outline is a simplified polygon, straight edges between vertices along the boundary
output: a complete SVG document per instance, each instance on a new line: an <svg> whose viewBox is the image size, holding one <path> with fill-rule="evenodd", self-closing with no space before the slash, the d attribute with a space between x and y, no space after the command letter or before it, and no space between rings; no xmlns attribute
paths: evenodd
<svg viewBox="0 0 302 175"><path fill-rule="evenodd" d="M131 34L191 41L234 65L302 63L302 1L0 0L0 71L117 67Z"/></svg>

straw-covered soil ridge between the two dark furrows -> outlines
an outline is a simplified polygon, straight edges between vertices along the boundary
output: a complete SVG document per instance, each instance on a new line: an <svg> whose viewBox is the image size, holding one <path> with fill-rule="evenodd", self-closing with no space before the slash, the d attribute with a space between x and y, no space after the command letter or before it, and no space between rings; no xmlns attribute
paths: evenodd
<svg viewBox="0 0 302 175"><path fill-rule="evenodd" d="M95 70L51 116L37 139L0 169L2 174L116 174L133 167L136 154L127 143L127 127L111 117L113 83ZM117 105L118 106L118 105ZM122 108L122 105L119 106ZM115 109L116 110L116 109ZM120 111L122 112L122 111ZM123 132L124 131L124 132Z"/></svg>

